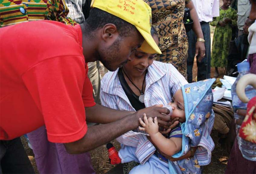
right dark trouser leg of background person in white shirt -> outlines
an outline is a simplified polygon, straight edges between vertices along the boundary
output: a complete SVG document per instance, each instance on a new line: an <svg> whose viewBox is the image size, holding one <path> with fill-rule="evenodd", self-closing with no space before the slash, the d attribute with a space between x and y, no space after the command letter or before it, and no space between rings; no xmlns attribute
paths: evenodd
<svg viewBox="0 0 256 174"><path fill-rule="evenodd" d="M210 78L211 74L211 36L209 23L202 24L201 29L205 40L205 57L201 62L197 61L197 81Z"/></svg>

